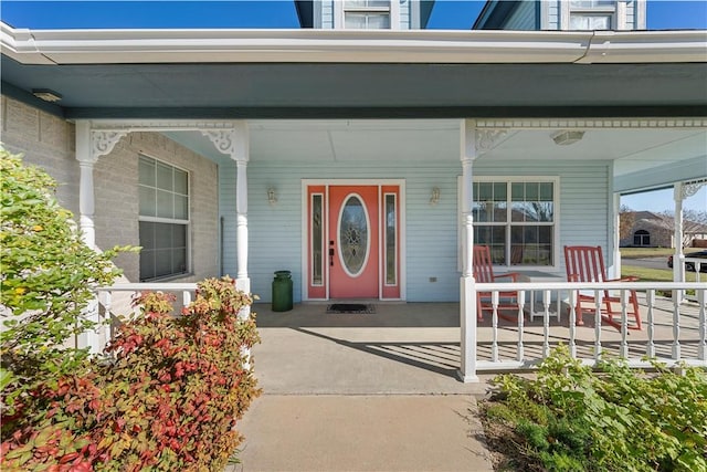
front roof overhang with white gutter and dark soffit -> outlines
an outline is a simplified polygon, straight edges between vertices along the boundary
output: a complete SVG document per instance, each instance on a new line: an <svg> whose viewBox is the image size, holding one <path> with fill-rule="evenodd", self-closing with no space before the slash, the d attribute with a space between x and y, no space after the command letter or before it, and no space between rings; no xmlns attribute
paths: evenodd
<svg viewBox="0 0 707 472"><path fill-rule="evenodd" d="M707 115L706 31L0 27L3 93L68 119Z"/></svg>

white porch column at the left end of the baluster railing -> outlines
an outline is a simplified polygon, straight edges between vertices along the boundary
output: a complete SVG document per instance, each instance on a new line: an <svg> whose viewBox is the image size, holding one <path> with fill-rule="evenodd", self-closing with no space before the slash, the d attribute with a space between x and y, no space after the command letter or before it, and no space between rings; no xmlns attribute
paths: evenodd
<svg viewBox="0 0 707 472"><path fill-rule="evenodd" d="M478 381L476 375L476 287L473 275L474 218L472 213L472 164L476 158L476 126L469 119L461 125L462 160L462 277L460 280L461 368L464 382Z"/></svg>

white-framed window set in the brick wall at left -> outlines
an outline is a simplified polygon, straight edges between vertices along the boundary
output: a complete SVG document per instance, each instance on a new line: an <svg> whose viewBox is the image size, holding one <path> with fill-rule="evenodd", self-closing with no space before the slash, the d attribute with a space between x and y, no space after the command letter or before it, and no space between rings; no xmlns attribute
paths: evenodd
<svg viewBox="0 0 707 472"><path fill-rule="evenodd" d="M140 282L188 272L189 175L140 156Z"/></svg>

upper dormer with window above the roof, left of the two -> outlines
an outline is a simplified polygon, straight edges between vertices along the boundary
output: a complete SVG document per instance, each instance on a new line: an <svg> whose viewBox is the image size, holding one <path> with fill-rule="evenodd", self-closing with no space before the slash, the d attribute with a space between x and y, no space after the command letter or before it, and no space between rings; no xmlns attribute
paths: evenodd
<svg viewBox="0 0 707 472"><path fill-rule="evenodd" d="M302 28L317 30L424 30L434 1L296 0Z"/></svg>

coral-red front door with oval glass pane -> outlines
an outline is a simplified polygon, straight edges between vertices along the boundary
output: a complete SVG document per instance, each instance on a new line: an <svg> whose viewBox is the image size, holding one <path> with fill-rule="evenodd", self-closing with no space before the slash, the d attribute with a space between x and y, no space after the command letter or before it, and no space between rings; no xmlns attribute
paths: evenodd
<svg viewBox="0 0 707 472"><path fill-rule="evenodd" d="M329 187L329 297L378 298L378 186Z"/></svg>

